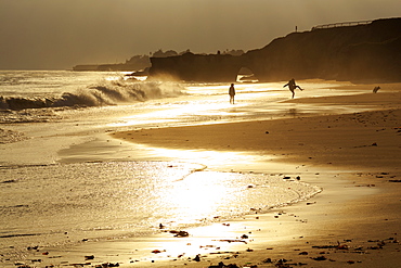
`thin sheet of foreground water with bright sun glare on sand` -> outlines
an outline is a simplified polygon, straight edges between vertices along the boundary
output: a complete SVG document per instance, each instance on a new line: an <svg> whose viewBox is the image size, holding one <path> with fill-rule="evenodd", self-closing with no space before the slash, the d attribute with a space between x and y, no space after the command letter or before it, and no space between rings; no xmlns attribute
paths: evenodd
<svg viewBox="0 0 401 268"><path fill-rule="evenodd" d="M177 162L105 162L0 168L0 251L143 238L266 212L319 189L266 175L205 171Z"/></svg>

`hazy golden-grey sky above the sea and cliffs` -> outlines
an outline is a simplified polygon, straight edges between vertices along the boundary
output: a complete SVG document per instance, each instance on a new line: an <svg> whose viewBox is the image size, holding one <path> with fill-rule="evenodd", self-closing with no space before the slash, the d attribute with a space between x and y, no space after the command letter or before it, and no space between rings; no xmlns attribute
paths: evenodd
<svg viewBox="0 0 401 268"><path fill-rule="evenodd" d="M295 26L400 16L400 0L0 0L0 69L119 63L158 49L247 51Z"/></svg>

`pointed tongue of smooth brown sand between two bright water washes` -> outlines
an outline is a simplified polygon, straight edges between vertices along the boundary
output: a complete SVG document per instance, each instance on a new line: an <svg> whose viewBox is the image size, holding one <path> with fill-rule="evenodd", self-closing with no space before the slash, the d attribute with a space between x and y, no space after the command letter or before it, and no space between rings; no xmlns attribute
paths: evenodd
<svg viewBox="0 0 401 268"><path fill-rule="evenodd" d="M130 130L112 137L153 148L272 155L280 163L379 170L401 166L400 117L401 104L353 114Z"/></svg>

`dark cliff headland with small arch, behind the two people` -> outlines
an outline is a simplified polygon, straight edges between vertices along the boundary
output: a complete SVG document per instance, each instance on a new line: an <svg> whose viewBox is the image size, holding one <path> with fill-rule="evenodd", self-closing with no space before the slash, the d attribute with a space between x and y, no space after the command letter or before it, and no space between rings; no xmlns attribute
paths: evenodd
<svg viewBox="0 0 401 268"><path fill-rule="evenodd" d="M181 80L235 81L241 67L261 81L321 78L401 81L401 18L314 29L277 38L241 56L195 55L151 59L151 76Z"/></svg>

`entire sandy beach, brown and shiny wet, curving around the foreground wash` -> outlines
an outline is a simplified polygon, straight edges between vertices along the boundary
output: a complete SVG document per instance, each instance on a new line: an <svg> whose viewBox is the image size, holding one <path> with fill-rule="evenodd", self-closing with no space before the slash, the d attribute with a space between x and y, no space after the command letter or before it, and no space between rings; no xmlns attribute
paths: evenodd
<svg viewBox="0 0 401 268"><path fill-rule="evenodd" d="M264 214L255 212L229 221L185 229L189 232L185 238L174 238L168 230L157 230L157 233L140 239L89 241L63 251L46 248L49 255L34 253L34 259L41 259L33 263L34 267L52 264L61 267L109 264L104 267L113 267L118 264L119 267L132 268L198 268L217 266L220 261L237 267L396 267L401 261L397 237L401 233L401 183L390 180L401 178L401 85L392 86L396 91L391 89L391 92L377 94L372 94L371 86L366 86L370 93L360 95L284 101L295 106L297 103L313 103L333 105L333 109L360 103L366 106L367 112L295 114L293 118L152 128L99 136L101 140L86 145L105 150L107 143L112 146L118 142L119 148L131 143L171 149L181 152L179 155L221 152L229 157L217 158L211 166L207 165L208 170L300 176L301 182L323 191L310 200L272 208ZM114 139L108 142L111 137ZM75 150L76 155L88 154L88 148L82 148L82 144ZM176 154L169 155L169 152L155 150L152 154L132 157L130 151L116 151L107 157L181 159ZM249 156L251 165L246 157L245 161L230 159L231 153ZM191 154L184 161L203 161L195 155ZM66 156L63 156L66 162L76 161ZM243 238L244 234L247 238ZM85 258L92 255L93 259Z"/></svg>

